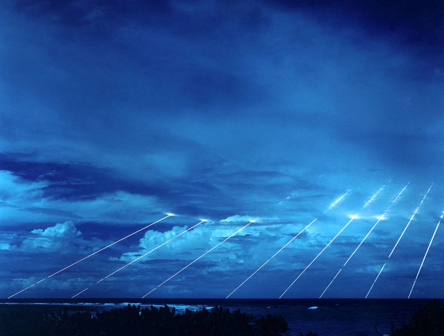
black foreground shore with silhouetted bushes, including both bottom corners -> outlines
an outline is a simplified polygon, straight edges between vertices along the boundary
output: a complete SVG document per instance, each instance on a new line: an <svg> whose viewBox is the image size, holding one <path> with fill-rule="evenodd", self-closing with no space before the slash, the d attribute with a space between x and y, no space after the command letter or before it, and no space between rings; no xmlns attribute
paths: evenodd
<svg viewBox="0 0 444 336"><path fill-rule="evenodd" d="M281 315L256 318L222 306L211 311L186 309L183 314L167 305L141 309L128 304L111 311L65 305L0 306L0 336L282 336L289 331ZM443 304L430 301L410 321L392 325L391 336L444 336Z"/></svg>

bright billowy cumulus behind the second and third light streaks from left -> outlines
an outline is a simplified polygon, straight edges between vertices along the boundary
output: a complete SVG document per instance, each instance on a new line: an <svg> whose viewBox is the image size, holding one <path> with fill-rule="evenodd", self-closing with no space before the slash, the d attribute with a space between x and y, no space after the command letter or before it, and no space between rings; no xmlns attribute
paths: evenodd
<svg viewBox="0 0 444 336"><path fill-rule="evenodd" d="M226 237L241 228L242 224L238 224L236 219L241 218L241 222L244 222L245 224L245 221L242 221L242 216L233 216L233 218L232 222L221 221L214 224L200 224L200 226L186 232L183 236L172 240L160 249L154 251L152 254L146 256L144 259L141 259L136 264L137 266L144 268L155 267L153 261L158 260L170 263L176 263L179 261L179 266L182 263L185 265L187 262L202 255L205 251L218 245ZM163 242L175 237L186 228L187 226L174 226L171 230L165 232L149 230L145 233L144 237L140 239L140 250L138 252L132 251L124 253L119 260L125 262L132 261L142 254L147 253L149 250L159 246ZM275 250L270 249L270 247L278 248L280 244L283 245L289 240L288 235L284 234L284 232L292 232L294 229L295 227L292 224L252 224L238 232L213 250L211 254L200 260L193 266L193 272L199 272L205 275L213 274L215 271L228 269L255 269L258 264L261 264L266 258L269 258L274 252L276 252ZM265 256L265 250L263 250L264 247L266 247ZM144 263L143 261L149 262ZM177 271L177 269L175 271Z"/></svg>

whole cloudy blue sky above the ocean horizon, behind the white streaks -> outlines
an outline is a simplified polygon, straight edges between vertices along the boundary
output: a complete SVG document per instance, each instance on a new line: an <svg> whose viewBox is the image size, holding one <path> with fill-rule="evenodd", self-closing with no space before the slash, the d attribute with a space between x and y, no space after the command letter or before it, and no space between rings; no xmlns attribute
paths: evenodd
<svg viewBox="0 0 444 336"><path fill-rule="evenodd" d="M1 3L0 297L406 298L444 210L443 4ZM366 207L364 204L384 189ZM335 199L351 189L341 202ZM198 225L119 273L111 271ZM440 227L412 297L443 297Z"/></svg>

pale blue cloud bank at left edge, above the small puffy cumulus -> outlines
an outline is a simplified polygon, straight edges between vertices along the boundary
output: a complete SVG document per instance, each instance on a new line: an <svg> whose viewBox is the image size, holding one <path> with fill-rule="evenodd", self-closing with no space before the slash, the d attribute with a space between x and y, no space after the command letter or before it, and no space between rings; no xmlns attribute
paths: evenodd
<svg viewBox="0 0 444 336"><path fill-rule="evenodd" d="M55 198L48 192L50 181L28 181L10 171L0 171L0 179L4 182L0 184L3 224L67 219L146 223L153 212L161 212L155 196L116 190L77 199Z"/></svg>

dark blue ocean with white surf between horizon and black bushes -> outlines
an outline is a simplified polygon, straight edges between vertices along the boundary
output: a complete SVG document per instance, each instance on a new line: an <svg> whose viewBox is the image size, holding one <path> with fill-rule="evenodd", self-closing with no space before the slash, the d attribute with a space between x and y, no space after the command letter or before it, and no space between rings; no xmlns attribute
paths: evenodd
<svg viewBox="0 0 444 336"><path fill-rule="evenodd" d="M400 326L411 314L430 299L13 299L7 304L79 305L85 310L101 311L130 304L142 307L174 306L182 313L222 305L230 310L256 317L266 314L283 315L290 335L317 332L320 336L389 335L391 323ZM6 307L6 306L3 306ZM377 331L377 332L376 332ZM379 333L379 334L377 334Z"/></svg>

